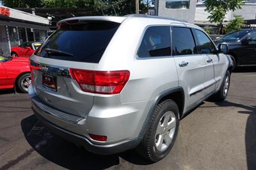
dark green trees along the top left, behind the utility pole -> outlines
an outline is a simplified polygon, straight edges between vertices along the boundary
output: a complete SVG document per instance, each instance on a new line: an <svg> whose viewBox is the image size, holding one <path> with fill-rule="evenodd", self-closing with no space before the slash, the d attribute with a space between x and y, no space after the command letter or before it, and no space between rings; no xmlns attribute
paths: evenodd
<svg viewBox="0 0 256 170"><path fill-rule="evenodd" d="M126 15L135 13L135 0L1 0L10 8L79 8L94 15ZM146 13L154 0L140 0L140 13Z"/></svg>

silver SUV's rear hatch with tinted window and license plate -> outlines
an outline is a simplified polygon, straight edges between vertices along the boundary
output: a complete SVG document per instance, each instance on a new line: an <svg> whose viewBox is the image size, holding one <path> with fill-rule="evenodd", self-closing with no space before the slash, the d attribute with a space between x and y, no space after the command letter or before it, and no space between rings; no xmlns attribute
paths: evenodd
<svg viewBox="0 0 256 170"><path fill-rule="evenodd" d="M97 68L119 25L102 20L61 22L31 57L36 97L54 109L85 118L94 94L82 91L69 69Z"/></svg>

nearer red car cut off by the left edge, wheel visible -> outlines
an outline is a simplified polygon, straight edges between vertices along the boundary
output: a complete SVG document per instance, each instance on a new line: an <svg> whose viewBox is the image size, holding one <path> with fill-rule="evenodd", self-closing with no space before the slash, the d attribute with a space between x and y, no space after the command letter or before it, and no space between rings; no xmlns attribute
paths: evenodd
<svg viewBox="0 0 256 170"><path fill-rule="evenodd" d="M29 58L0 56L0 89L16 88L27 93L30 72Z"/></svg>

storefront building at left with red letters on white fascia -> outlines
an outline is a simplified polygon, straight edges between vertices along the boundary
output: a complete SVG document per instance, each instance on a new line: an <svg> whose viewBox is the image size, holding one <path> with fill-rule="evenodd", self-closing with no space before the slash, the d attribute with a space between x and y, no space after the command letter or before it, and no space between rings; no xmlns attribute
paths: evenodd
<svg viewBox="0 0 256 170"><path fill-rule="evenodd" d="M22 42L43 42L49 24L43 17L0 6L0 53L10 56L11 48Z"/></svg>

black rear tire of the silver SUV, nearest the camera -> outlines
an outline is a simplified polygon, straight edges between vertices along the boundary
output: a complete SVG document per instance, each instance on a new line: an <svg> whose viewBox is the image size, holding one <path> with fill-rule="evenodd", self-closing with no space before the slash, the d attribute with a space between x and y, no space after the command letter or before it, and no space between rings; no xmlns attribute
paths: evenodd
<svg viewBox="0 0 256 170"><path fill-rule="evenodd" d="M175 114L175 118L176 118L172 141L170 142L170 145L166 146L164 151L159 151L156 146L156 130L157 130L157 127L161 124L161 120L163 116L170 111ZM152 118L149 121L147 131L145 132L145 135L141 143L137 146L136 151L138 152L139 155L146 158L147 160L150 160L151 162L157 162L162 158L166 157L166 155L168 155L168 153L172 149L178 134L178 130L179 130L179 107L173 100L170 100L170 99L164 100L154 108L154 113L152 115ZM165 134L170 135L171 130L170 131L166 130ZM163 136L164 134L162 135L162 137ZM163 140L164 140L164 137L163 137ZM163 146L163 144L161 144L161 147Z"/></svg>

